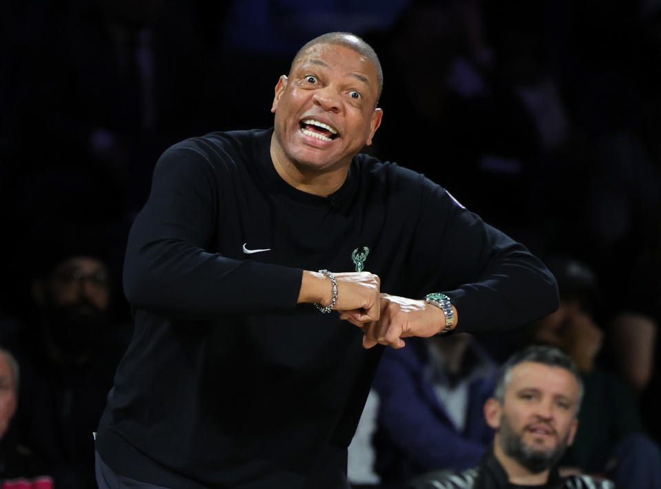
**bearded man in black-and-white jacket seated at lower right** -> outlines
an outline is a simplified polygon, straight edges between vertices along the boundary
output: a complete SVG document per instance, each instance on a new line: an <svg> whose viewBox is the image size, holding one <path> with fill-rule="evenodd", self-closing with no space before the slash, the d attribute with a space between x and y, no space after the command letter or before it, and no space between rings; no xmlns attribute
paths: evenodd
<svg viewBox="0 0 661 489"><path fill-rule="evenodd" d="M411 489L613 488L605 479L558 473L576 434L583 382L570 357L552 346L529 346L503 366L484 405L495 430L492 450L476 468L428 473ZM442 443L442 441L439 441Z"/></svg>

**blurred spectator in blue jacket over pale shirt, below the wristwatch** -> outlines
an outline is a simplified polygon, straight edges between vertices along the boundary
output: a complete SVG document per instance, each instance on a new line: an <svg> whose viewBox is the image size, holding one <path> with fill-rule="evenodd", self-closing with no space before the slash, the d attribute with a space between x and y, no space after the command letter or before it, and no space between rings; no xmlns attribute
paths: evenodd
<svg viewBox="0 0 661 489"><path fill-rule="evenodd" d="M386 348L373 384L380 400L373 443L384 486L479 462L493 437L482 406L495 371L468 333Z"/></svg>

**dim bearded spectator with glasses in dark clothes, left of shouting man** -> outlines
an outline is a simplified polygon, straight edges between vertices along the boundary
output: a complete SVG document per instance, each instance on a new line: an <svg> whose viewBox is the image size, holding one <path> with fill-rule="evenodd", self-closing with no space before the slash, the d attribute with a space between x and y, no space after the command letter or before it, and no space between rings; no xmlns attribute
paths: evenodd
<svg viewBox="0 0 661 489"><path fill-rule="evenodd" d="M35 314L25 314L27 326L9 344L23 367L17 439L57 487L94 488L92 433L130 330L113 322L103 233L43 231L28 271Z"/></svg>

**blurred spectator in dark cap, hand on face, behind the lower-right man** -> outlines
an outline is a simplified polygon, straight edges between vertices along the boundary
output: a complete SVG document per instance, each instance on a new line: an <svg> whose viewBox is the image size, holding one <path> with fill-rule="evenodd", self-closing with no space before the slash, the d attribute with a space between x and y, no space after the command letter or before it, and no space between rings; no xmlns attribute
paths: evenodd
<svg viewBox="0 0 661 489"><path fill-rule="evenodd" d="M562 466L607 475L618 487L660 488L661 453L644 431L636 397L597 361L604 332L592 313L600 291L594 272L570 258L548 265L558 280L560 307L538 322L534 340L570 355L585 384L581 422Z"/></svg>

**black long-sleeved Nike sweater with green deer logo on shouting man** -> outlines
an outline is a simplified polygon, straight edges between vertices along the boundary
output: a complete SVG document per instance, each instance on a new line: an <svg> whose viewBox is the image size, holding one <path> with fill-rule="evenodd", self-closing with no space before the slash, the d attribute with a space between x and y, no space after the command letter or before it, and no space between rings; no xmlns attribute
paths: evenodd
<svg viewBox="0 0 661 489"><path fill-rule="evenodd" d="M302 270L353 271L355 249L369 248L381 291L448 294L457 331L557 307L539 260L424 176L359 154L338 191L306 194L277 175L272 133L191 138L156 165L125 259L135 334L97 438L122 475L182 488L328 483L383 348L296 301Z"/></svg>

